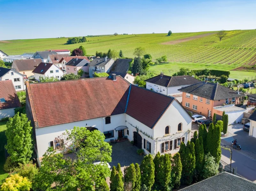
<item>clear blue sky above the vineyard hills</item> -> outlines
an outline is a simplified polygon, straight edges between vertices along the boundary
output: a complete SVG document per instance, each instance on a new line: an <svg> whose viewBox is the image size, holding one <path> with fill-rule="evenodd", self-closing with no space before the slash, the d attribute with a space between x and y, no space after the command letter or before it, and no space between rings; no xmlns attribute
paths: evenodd
<svg viewBox="0 0 256 191"><path fill-rule="evenodd" d="M0 0L0 40L256 28L255 0Z"/></svg>

